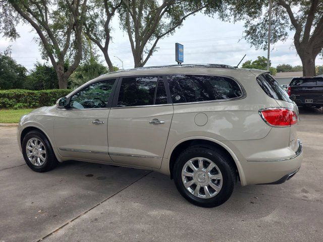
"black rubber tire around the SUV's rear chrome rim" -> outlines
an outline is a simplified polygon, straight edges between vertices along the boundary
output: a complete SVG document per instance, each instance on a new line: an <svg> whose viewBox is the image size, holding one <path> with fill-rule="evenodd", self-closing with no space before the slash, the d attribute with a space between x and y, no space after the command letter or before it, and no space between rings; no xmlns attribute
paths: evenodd
<svg viewBox="0 0 323 242"><path fill-rule="evenodd" d="M218 194L211 198L198 198L191 194L182 181L182 169L185 163L195 157L203 157L214 162L220 169L223 177L222 188ZM225 203L231 196L237 181L237 174L234 165L229 157L221 150L206 147L190 147L183 151L176 160L173 169L175 185L180 194L190 203L200 207L217 207Z"/></svg>

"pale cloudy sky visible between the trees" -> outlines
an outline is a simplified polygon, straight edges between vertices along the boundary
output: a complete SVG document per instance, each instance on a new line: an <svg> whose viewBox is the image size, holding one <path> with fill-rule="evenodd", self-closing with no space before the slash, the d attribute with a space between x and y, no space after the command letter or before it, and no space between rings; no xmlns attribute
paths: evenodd
<svg viewBox="0 0 323 242"><path fill-rule="evenodd" d="M122 67L122 63L115 56L118 56L124 63L124 69L134 67L130 43L126 32L119 27L118 18L112 21L113 42L110 45L110 56L114 66ZM244 54L243 62L249 59L256 59L257 56L267 56L267 51L256 50L243 39L243 22L228 23L222 22L216 17L211 18L203 14L190 16L184 21L183 26L176 32L164 39L159 40L158 50L149 58L146 66L172 65L175 62L175 43L184 45L184 64L226 64L236 66ZM10 42L6 38L0 39L0 51L4 51L9 45L12 48L12 57L17 63L28 70L41 59L39 46L35 42L37 34L27 24L19 24L17 30L20 38ZM301 61L293 43L293 32L285 42L278 42L271 50L272 66L279 64L301 65ZM97 50L102 64L105 64L103 55ZM243 63L242 62L242 63ZM323 65L320 57L316 58L316 65Z"/></svg>

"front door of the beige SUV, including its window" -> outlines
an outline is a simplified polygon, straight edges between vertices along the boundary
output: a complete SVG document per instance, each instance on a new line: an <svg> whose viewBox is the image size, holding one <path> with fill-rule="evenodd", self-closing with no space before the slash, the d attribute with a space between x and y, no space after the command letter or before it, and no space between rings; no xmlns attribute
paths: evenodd
<svg viewBox="0 0 323 242"><path fill-rule="evenodd" d="M92 83L69 99L70 107L58 109L54 137L62 156L111 161L107 148L107 103L114 80Z"/></svg>

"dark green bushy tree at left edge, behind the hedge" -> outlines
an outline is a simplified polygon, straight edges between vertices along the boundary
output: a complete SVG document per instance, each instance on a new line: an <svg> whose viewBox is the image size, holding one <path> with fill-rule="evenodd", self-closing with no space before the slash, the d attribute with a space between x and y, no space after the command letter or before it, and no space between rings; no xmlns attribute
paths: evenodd
<svg viewBox="0 0 323 242"><path fill-rule="evenodd" d="M26 73L27 69L17 64L7 51L0 52L0 89L23 88Z"/></svg>

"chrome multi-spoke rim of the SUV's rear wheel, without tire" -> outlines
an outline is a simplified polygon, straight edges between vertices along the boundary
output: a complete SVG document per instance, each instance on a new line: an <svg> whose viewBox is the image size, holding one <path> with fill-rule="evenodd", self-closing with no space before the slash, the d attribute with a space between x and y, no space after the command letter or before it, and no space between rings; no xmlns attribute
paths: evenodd
<svg viewBox="0 0 323 242"><path fill-rule="evenodd" d="M220 192L223 177L219 167L213 161L196 157L187 161L183 166L182 181L192 195L207 199Z"/></svg>

